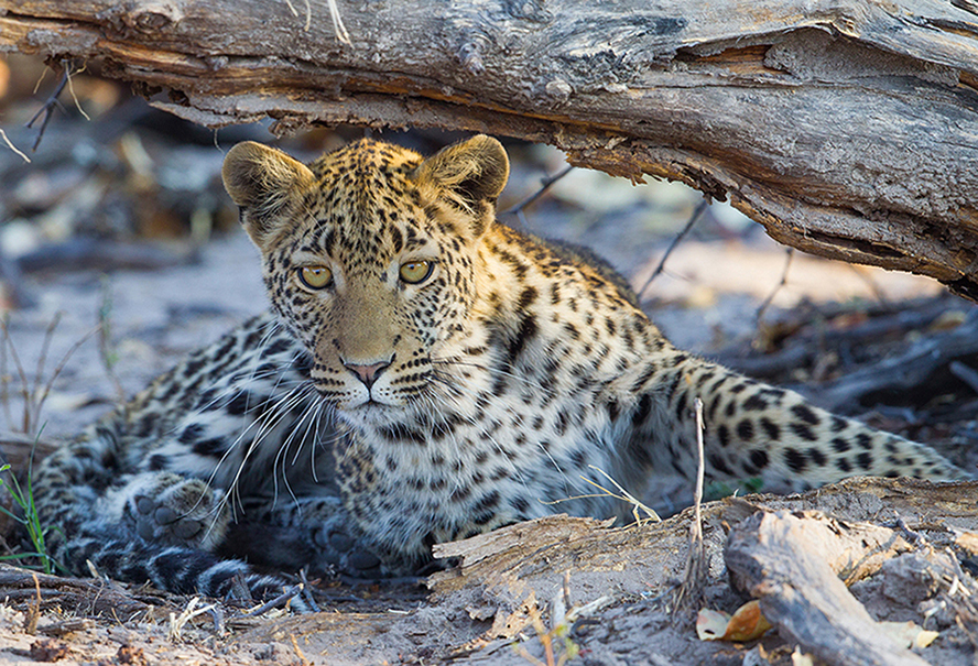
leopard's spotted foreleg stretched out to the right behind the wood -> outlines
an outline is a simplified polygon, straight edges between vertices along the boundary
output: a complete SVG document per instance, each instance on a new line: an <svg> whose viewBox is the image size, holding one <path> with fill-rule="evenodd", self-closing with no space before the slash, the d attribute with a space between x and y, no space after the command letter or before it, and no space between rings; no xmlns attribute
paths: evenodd
<svg viewBox="0 0 978 666"><path fill-rule="evenodd" d="M630 407L621 414L631 428L626 457L656 469L695 476L699 398L710 480L759 479L769 490L802 491L852 476L967 477L930 447L836 416L797 393L667 343L633 372Z"/></svg>

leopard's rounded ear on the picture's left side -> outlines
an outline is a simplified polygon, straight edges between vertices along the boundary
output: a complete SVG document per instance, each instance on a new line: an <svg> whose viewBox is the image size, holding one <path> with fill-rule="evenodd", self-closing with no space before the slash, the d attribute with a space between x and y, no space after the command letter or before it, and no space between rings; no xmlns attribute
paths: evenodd
<svg viewBox="0 0 978 666"><path fill-rule="evenodd" d="M313 186L313 172L282 151L246 141L232 148L220 172L225 189L241 208L241 223L259 248L278 236L291 208Z"/></svg>

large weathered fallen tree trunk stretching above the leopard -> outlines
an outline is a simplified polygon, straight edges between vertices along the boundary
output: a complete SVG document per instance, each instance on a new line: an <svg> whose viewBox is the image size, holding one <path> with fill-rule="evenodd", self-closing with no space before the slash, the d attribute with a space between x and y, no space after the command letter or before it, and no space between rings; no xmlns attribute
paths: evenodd
<svg viewBox="0 0 978 666"><path fill-rule="evenodd" d="M478 130L677 178L802 250L978 297L975 0L6 0L0 48L218 127Z"/></svg>

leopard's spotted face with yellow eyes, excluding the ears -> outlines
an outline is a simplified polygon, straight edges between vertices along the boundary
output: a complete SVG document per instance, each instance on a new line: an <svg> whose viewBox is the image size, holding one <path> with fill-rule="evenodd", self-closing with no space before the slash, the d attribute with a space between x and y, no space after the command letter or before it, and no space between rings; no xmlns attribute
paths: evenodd
<svg viewBox="0 0 978 666"><path fill-rule="evenodd" d="M313 353L316 389L344 412L419 398L472 301L471 245L428 217L406 174L387 176L365 186L330 170L308 215L264 255L273 306Z"/></svg>

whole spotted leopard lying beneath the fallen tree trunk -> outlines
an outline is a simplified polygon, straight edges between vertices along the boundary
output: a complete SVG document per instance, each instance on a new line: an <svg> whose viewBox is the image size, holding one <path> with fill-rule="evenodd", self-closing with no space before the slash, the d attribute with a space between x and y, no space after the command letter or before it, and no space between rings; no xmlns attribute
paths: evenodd
<svg viewBox="0 0 978 666"><path fill-rule="evenodd" d="M509 171L487 135L308 164L233 146L222 181L271 306L43 460L54 557L268 598L303 568L416 576L435 544L554 513L628 520L593 484L692 484L697 441L707 481L780 491L969 476L674 347L604 260L497 220Z"/></svg>

